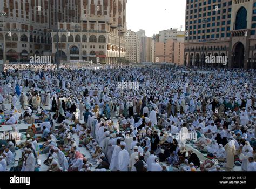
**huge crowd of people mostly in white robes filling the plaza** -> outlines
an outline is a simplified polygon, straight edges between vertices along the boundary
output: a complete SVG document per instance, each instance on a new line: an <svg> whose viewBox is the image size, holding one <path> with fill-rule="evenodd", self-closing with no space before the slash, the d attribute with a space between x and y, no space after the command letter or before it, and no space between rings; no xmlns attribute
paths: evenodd
<svg viewBox="0 0 256 189"><path fill-rule="evenodd" d="M1 126L31 126L22 144L0 140L0 170L20 150L22 171L35 171L41 154L48 171L256 171L254 78L240 69L6 66Z"/></svg>

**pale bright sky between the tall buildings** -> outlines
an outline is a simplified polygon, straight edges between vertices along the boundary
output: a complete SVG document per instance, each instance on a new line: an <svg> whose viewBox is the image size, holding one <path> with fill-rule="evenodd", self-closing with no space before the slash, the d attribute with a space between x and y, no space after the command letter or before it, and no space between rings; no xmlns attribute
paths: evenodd
<svg viewBox="0 0 256 189"><path fill-rule="evenodd" d="M152 37L161 30L185 29L185 0L127 0L127 29L134 32L146 30Z"/></svg>

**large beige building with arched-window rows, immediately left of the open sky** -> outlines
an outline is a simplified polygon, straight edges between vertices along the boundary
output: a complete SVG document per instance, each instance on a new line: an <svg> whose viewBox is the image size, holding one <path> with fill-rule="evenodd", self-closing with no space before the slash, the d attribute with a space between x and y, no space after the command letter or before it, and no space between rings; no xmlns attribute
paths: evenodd
<svg viewBox="0 0 256 189"><path fill-rule="evenodd" d="M78 23L59 23L62 61L117 63L125 58L127 0L81 0ZM52 32L52 55L57 57L57 32ZM120 49L119 49L120 46Z"/></svg>

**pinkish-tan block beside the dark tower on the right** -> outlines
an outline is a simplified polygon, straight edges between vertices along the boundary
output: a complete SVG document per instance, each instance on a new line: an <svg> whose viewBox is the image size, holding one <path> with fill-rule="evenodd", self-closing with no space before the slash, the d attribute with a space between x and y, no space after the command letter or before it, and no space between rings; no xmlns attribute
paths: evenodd
<svg viewBox="0 0 256 189"><path fill-rule="evenodd" d="M174 63L183 65L184 44L177 40L168 39L166 42L157 42L155 59L156 62Z"/></svg>

